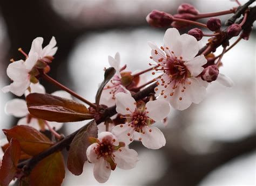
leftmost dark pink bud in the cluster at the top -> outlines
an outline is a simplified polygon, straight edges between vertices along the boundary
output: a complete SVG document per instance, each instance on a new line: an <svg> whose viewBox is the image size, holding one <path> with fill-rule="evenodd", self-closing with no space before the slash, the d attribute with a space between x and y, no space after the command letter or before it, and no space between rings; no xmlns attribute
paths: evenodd
<svg viewBox="0 0 256 186"><path fill-rule="evenodd" d="M169 13L153 10L146 17L147 23L154 27L170 26L172 23L172 16Z"/></svg>

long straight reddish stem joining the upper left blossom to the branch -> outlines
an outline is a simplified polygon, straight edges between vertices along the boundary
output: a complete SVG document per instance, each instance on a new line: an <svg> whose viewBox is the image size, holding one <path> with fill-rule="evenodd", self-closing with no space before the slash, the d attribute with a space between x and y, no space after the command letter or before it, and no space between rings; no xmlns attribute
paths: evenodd
<svg viewBox="0 0 256 186"><path fill-rule="evenodd" d="M89 101L87 101L85 98L83 98L82 96L76 94L76 92L70 90L68 87L65 87L63 84L60 84L58 81L54 80L53 78L51 78L50 76L48 76L47 74L45 73L41 73L42 74L42 77L52 83L52 84L55 84L57 85L57 87L61 88L62 90L65 90L66 92L69 92L69 94L71 94L72 96L78 98L80 101L86 103L87 105L90 105L92 108L96 109L97 106Z"/></svg>

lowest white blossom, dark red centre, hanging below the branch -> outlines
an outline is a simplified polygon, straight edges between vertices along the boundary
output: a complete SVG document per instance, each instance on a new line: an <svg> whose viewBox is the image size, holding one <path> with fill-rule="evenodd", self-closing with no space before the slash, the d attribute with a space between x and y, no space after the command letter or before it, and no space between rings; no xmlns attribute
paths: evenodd
<svg viewBox="0 0 256 186"><path fill-rule="evenodd" d="M99 183L109 180L111 170L117 167L132 169L138 161L138 153L126 148L123 142L110 132L102 132L87 148L87 159L95 163L93 175Z"/></svg>

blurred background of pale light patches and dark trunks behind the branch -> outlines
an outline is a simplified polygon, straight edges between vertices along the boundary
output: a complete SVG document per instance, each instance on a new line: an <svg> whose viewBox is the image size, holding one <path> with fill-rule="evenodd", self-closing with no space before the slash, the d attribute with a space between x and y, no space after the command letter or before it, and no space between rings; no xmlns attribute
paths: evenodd
<svg viewBox="0 0 256 186"><path fill-rule="evenodd" d="M175 14L184 2L200 12L237 6L228 0L0 1L0 87L10 83L6 75L9 60L23 59L19 47L28 53L33 39L43 37L44 44L48 44L54 35L58 51L49 75L93 102L103 80L103 69L109 67L107 56L119 52L122 64L127 64L129 70L148 68L151 49L147 41L161 45L166 29L147 25L146 15L153 9ZM224 23L228 17L219 18ZM137 167L117 168L105 184L255 185L255 38L254 26L250 40L241 40L224 55L220 72L232 78L233 88L213 82L202 103L192 104L182 112L172 110L166 126L157 124L165 134L166 146L156 151L135 142L131 148L139 154ZM57 90L41 83L48 93ZM14 95L0 91L1 129L17 122L4 113L4 105L11 98ZM60 132L66 135L84 124L67 123ZM66 171L63 185L99 185L92 167L86 163L80 176Z"/></svg>

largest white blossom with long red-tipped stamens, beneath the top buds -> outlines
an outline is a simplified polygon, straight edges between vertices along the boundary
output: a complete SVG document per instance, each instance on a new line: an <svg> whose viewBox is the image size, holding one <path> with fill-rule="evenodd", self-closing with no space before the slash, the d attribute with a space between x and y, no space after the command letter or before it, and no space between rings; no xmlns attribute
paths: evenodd
<svg viewBox="0 0 256 186"><path fill-rule="evenodd" d="M164 35L164 46L159 49L149 42L151 59L157 62L159 76L156 95L170 102L174 109L187 109L192 103L200 103L206 95L207 82L197 77L207 60L196 56L199 46L196 38L180 35L176 28L169 28ZM196 56L196 57L195 57Z"/></svg>

